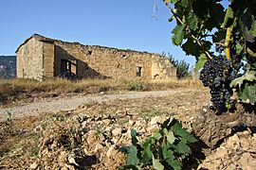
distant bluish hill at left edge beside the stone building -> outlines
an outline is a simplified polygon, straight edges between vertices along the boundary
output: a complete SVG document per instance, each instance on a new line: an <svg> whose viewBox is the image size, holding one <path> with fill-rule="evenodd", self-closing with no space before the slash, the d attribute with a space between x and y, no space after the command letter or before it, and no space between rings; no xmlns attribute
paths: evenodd
<svg viewBox="0 0 256 170"><path fill-rule="evenodd" d="M0 56L0 78L16 77L16 56Z"/></svg>

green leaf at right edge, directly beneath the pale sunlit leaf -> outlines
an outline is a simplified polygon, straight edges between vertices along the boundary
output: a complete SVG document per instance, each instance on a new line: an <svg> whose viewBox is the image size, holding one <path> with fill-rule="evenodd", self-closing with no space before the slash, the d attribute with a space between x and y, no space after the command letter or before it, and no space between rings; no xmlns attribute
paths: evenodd
<svg viewBox="0 0 256 170"><path fill-rule="evenodd" d="M256 81L246 82L245 87L237 93L239 98L245 103L255 105L256 103Z"/></svg>

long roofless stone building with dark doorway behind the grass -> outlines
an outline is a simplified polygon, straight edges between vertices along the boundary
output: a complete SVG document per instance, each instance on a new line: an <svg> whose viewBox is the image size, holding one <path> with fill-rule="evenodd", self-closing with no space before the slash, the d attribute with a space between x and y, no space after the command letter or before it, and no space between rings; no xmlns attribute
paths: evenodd
<svg viewBox="0 0 256 170"><path fill-rule="evenodd" d="M172 78L176 69L160 55L62 42L32 35L16 50L17 77L43 80L72 73L78 78Z"/></svg>

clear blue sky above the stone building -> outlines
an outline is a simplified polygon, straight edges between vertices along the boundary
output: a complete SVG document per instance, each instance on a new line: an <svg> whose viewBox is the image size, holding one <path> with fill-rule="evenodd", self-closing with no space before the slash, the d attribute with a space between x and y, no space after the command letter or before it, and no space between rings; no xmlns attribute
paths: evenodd
<svg viewBox="0 0 256 170"><path fill-rule="evenodd" d="M3 0L0 3L0 55L15 50L34 33L82 44L154 53L170 52L194 64L171 41L174 25L162 0Z"/></svg>

